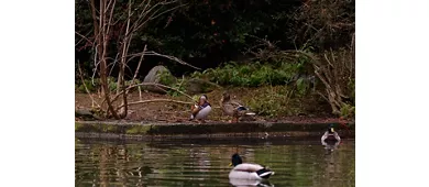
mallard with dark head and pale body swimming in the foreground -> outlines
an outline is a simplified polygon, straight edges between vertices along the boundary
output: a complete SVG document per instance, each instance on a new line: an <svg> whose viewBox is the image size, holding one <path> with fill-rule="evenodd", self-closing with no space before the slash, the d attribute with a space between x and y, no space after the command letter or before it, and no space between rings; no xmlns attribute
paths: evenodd
<svg viewBox="0 0 429 187"><path fill-rule="evenodd" d="M232 163L230 166L234 166L230 172L230 178L255 180L266 179L274 175L274 172L258 164L243 163L240 155L237 153L232 155Z"/></svg>

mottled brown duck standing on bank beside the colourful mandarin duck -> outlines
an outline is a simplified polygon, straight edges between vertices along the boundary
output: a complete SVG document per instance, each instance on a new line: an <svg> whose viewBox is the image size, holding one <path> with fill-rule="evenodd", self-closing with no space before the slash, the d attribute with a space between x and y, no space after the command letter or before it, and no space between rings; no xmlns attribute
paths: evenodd
<svg viewBox="0 0 429 187"><path fill-rule="evenodd" d="M228 92L223 92L222 99L220 100L220 106L223 113L231 116L232 121L239 122L239 118L246 116L254 116L255 113L250 112L249 108L240 103L240 101L231 100L231 97Z"/></svg>

